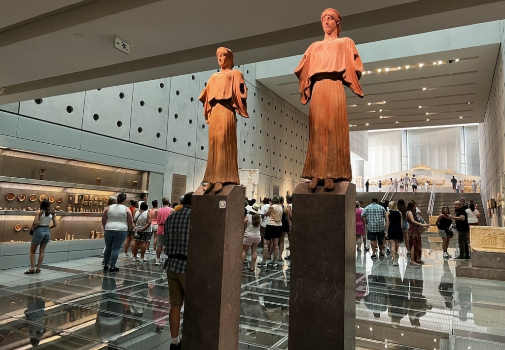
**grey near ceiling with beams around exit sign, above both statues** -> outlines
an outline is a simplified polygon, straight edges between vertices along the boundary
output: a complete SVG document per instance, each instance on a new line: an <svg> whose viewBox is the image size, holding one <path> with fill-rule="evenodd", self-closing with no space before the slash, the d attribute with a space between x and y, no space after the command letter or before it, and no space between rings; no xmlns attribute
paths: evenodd
<svg viewBox="0 0 505 350"><path fill-rule="evenodd" d="M206 71L225 45L240 64L302 53L334 1L0 0L0 104ZM356 43L505 18L499 0L342 0ZM113 48L112 36L133 44Z"/></svg>

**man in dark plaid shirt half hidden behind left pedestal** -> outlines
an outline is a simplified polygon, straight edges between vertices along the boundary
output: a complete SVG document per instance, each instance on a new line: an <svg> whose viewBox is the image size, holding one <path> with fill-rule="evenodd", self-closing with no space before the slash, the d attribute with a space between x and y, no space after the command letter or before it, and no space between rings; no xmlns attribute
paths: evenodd
<svg viewBox="0 0 505 350"><path fill-rule="evenodd" d="M183 207L171 214L165 221L165 254L167 260L164 268L167 270L168 289L170 293L170 334L172 343L170 350L182 348L179 339L181 308L186 293L186 262L188 254L189 219L191 217L191 197L193 192L186 193L182 201Z"/></svg>

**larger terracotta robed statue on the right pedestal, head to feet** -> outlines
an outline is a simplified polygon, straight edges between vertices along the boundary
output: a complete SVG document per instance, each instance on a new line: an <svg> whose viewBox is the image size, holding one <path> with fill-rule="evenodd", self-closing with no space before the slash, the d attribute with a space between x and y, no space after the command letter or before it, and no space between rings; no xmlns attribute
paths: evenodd
<svg viewBox="0 0 505 350"><path fill-rule="evenodd" d="M311 100L309 146L301 173L311 180L311 190L322 182L326 190L332 190L335 182L352 179L344 85L363 97L363 64L354 41L339 38L340 19L336 10L322 13L324 40L309 46L294 71L301 103Z"/></svg>

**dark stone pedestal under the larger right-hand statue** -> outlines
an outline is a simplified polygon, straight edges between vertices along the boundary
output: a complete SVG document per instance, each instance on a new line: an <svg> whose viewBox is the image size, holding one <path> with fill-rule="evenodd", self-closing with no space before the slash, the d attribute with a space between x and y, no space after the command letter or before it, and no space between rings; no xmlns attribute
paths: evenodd
<svg viewBox="0 0 505 350"><path fill-rule="evenodd" d="M356 187L293 192L289 350L356 348Z"/></svg>

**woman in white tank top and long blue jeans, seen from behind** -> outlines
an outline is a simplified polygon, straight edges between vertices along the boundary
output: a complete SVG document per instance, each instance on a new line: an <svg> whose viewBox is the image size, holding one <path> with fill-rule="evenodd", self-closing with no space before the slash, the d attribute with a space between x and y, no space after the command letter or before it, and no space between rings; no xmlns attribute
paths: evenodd
<svg viewBox="0 0 505 350"><path fill-rule="evenodd" d="M116 267L118 261L119 249L128 236L128 232L133 226L133 217L131 210L123 203L126 200L126 194L120 193L116 203L108 206L102 215L102 225L104 226L105 252L104 252L104 271L119 271ZM109 267L109 259L111 266Z"/></svg>

